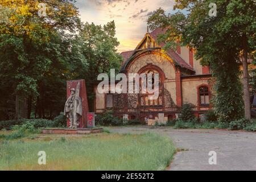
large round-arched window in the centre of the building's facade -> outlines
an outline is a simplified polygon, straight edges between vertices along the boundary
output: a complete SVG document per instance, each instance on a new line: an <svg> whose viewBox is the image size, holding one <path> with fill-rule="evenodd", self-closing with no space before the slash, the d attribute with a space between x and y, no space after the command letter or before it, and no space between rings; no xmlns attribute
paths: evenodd
<svg viewBox="0 0 256 182"><path fill-rule="evenodd" d="M150 96L153 94L150 94L147 92L147 90L142 90L142 85L145 84L143 82L143 80L141 79L140 81L140 96L139 96L139 100L140 100L140 105L141 107L162 107L163 106L163 82L161 81L161 76L159 71L157 71L156 69L146 69L146 71L143 71L142 73L144 73L146 75L146 83L148 81L148 75L152 74L152 89L156 89L154 88L154 84L155 84L155 80L154 80L154 75L155 74L159 74L159 96L158 98L154 99L154 100L150 100ZM143 92L144 91L144 92Z"/></svg>

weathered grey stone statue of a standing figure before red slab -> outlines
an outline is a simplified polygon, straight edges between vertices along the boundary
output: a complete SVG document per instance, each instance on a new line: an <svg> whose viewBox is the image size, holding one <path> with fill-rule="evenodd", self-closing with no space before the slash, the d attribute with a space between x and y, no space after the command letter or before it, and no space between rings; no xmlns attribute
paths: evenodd
<svg viewBox="0 0 256 182"><path fill-rule="evenodd" d="M70 121L70 129L76 129L79 126L79 119L82 116L82 100L79 97L80 83L78 82L76 89L71 89L71 95L65 103L64 115Z"/></svg>

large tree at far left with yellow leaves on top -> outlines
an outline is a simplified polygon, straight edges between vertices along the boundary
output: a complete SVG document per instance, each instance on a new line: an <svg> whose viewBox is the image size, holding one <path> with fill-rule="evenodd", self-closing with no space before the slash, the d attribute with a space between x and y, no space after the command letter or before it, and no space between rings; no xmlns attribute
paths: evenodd
<svg viewBox="0 0 256 182"><path fill-rule="evenodd" d="M3 89L9 89L5 94L14 93L8 98L16 97L16 117L30 117L32 100L40 96L40 83L56 64L65 63L59 45L67 35L64 32L75 32L80 24L72 2L40 1L46 4L46 16L38 15L39 1L0 2L0 16L4 17L0 22L0 78L5 81L1 82ZM7 105L3 103L3 107Z"/></svg>

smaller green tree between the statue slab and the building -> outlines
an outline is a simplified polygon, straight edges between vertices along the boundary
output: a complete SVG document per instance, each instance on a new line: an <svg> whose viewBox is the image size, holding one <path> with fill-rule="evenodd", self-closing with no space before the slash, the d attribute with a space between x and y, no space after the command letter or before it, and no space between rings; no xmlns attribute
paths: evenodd
<svg viewBox="0 0 256 182"><path fill-rule="evenodd" d="M82 55L85 57L86 66L77 67L80 69L79 78L85 78L89 107L93 107L94 85L100 73L109 73L110 68L119 71L122 57L117 52L119 45L115 38L114 21L104 26L94 23L85 23L77 37L76 42L80 43Z"/></svg>

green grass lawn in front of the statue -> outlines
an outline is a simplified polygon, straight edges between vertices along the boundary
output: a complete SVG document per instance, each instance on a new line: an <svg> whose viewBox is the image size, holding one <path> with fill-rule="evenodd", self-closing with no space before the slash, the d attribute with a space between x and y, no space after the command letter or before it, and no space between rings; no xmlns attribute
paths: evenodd
<svg viewBox="0 0 256 182"><path fill-rule="evenodd" d="M46 165L38 164L39 151ZM0 170L164 170L174 153L169 138L152 133L34 134L0 140Z"/></svg>

